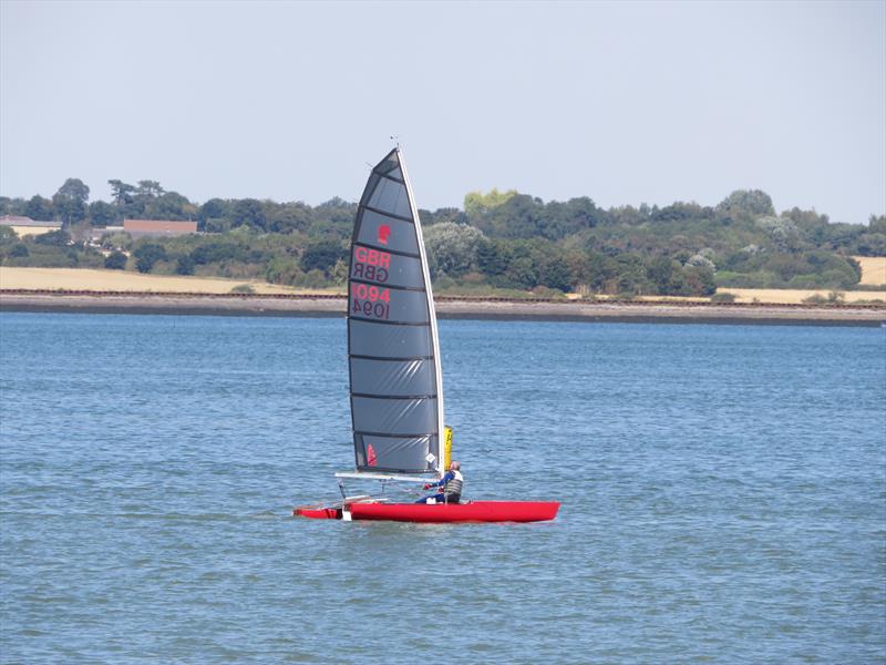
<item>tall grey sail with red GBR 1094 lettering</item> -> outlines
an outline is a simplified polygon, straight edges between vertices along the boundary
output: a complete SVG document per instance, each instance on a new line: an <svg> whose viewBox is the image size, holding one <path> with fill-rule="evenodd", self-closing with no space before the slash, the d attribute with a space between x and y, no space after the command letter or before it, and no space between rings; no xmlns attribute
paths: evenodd
<svg viewBox="0 0 886 665"><path fill-rule="evenodd" d="M443 395L421 224L399 149L354 221L348 356L358 472L441 473Z"/></svg>

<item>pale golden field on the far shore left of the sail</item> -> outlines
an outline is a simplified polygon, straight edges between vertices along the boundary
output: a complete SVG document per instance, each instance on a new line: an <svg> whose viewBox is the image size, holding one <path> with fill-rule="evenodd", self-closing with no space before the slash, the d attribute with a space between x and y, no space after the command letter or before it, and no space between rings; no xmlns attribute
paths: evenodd
<svg viewBox="0 0 886 665"><path fill-rule="evenodd" d="M305 289L289 286L244 279L166 277L124 273L123 270L89 270L80 268L0 267L0 288L3 289L229 294L234 287L243 284L251 286L257 294L308 293Z"/></svg>

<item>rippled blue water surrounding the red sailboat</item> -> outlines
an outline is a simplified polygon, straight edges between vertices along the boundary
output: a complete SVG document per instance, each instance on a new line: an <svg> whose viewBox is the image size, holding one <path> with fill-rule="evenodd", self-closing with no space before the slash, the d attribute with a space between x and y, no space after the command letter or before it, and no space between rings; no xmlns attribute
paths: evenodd
<svg viewBox="0 0 886 665"><path fill-rule="evenodd" d="M883 329L441 337L466 494L556 522L292 519L341 319L0 315L2 662L886 659Z"/></svg>

